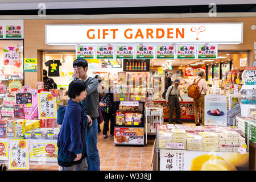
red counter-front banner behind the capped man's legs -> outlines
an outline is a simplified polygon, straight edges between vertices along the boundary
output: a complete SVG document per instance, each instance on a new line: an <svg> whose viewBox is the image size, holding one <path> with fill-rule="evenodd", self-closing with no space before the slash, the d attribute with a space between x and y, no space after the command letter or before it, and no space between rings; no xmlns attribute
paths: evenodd
<svg viewBox="0 0 256 182"><path fill-rule="evenodd" d="M153 104L162 106L163 118L169 119L170 107L169 107L169 104L166 103L166 101L153 101ZM175 118L176 118L176 109L174 111L173 119ZM193 102L180 102L180 119L188 119L188 120L195 119Z"/></svg>

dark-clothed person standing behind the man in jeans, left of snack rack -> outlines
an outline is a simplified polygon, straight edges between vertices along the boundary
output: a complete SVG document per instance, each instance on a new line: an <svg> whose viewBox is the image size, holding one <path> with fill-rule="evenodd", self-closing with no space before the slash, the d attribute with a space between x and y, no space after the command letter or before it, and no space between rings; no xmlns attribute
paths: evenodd
<svg viewBox="0 0 256 182"><path fill-rule="evenodd" d="M113 93L109 92L102 97L100 102L100 108L104 118L104 127L103 127L103 137L108 138L107 131L109 128L109 120L110 120L110 137L114 136L114 125L115 125L115 111L113 109L114 96Z"/></svg>

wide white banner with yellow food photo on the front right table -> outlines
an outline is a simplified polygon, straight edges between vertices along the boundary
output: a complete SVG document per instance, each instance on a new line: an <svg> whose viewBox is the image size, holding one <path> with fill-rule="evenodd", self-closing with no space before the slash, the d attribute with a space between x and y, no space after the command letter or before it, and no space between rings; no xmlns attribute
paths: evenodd
<svg viewBox="0 0 256 182"><path fill-rule="evenodd" d="M249 153L160 150L160 171L248 171Z"/></svg>

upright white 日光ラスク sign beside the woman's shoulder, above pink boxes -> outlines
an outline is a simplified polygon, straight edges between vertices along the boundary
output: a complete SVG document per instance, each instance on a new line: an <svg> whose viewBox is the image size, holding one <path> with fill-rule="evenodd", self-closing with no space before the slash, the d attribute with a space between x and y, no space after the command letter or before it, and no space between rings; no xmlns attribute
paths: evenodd
<svg viewBox="0 0 256 182"><path fill-rule="evenodd" d="M53 97L50 92L38 94L38 118L52 119L57 117L56 97Z"/></svg>

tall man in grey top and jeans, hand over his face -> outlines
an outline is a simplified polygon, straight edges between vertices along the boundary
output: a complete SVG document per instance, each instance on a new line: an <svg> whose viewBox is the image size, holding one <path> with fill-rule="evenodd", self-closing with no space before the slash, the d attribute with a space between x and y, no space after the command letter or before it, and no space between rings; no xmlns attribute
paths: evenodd
<svg viewBox="0 0 256 182"><path fill-rule="evenodd" d="M85 59L76 59L73 62L74 80L85 81L88 85L86 89L87 97L81 101L84 106L85 113L92 119L92 126L87 128L87 162L89 171L100 171L100 155L97 149L97 133L98 133L98 80L87 75L88 62ZM89 118L89 119L90 119Z"/></svg>

